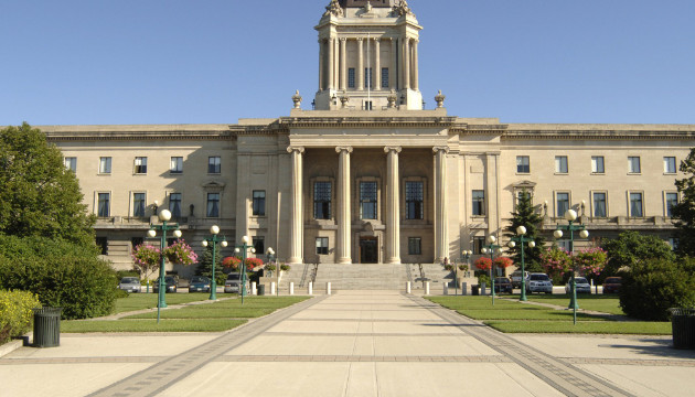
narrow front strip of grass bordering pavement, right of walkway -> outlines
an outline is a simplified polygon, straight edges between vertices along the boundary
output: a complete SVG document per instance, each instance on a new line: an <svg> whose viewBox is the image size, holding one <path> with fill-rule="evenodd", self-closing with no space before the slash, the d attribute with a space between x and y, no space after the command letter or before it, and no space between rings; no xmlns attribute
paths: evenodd
<svg viewBox="0 0 695 397"><path fill-rule="evenodd" d="M623 322L623 321L484 321L498 331L505 333L569 333L569 334L628 334L628 335L671 335L670 322Z"/></svg>

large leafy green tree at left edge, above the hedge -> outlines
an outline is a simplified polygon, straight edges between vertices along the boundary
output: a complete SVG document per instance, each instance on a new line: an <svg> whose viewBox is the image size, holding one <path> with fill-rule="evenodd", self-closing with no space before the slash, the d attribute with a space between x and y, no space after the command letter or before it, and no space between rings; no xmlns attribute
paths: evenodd
<svg viewBox="0 0 695 397"><path fill-rule="evenodd" d="M75 174L62 152L24 122L0 130L0 234L63 238L94 245Z"/></svg>

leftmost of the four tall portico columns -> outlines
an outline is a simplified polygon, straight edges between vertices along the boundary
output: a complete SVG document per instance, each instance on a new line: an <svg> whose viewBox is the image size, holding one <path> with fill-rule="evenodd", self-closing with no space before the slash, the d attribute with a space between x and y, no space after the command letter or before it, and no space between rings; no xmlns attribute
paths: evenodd
<svg viewBox="0 0 695 397"><path fill-rule="evenodd" d="M289 147L287 151L292 155L292 195L290 213L290 264L301 264L303 261L303 214L302 214L302 173L303 173L303 153L302 147Z"/></svg>

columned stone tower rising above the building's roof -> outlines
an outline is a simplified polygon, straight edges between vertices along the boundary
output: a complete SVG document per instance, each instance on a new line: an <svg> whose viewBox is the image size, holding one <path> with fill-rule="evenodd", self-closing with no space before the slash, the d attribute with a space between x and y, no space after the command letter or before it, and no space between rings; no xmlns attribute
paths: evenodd
<svg viewBox="0 0 695 397"><path fill-rule="evenodd" d="M317 110L423 108L418 39L406 0L331 0L319 32Z"/></svg>

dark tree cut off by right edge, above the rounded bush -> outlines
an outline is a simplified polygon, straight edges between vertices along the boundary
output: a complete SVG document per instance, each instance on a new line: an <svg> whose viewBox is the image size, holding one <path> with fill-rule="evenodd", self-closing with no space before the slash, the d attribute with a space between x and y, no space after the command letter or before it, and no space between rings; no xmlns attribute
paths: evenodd
<svg viewBox="0 0 695 397"><path fill-rule="evenodd" d="M695 149L681 162L681 172L687 176L675 182L681 201L672 207L673 223L678 238L676 253L695 257Z"/></svg>

